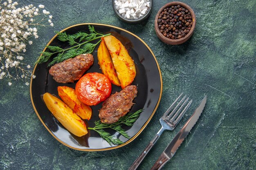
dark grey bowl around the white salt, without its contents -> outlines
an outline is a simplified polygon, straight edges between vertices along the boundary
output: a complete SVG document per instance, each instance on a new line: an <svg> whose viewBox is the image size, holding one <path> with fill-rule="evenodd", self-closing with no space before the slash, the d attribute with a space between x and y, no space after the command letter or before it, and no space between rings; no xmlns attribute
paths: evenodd
<svg viewBox="0 0 256 170"><path fill-rule="evenodd" d="M117 9L116 9L116 7L115 7L115 0L112 0L112 7L113 7L113 9L114 9L114 11L115 11L117 17L118 17L120 20L122 20L122 21L124 21L124 22L126 22L126 23L131 23L131 24L137 24L137 23L142 22L143 20L146 20L146 19L149 17L151 11L152 11L152 4L153 4L153 0L150 0L150 6L149 6L149 8L148 8L148 11L146 12L146 14L145 14L143 17L141 17L141 18L139 18L139 19L137 19L137 20L132 20L132 19L127 19L127 18L123 17L123 16L117 11Z"/></svg>

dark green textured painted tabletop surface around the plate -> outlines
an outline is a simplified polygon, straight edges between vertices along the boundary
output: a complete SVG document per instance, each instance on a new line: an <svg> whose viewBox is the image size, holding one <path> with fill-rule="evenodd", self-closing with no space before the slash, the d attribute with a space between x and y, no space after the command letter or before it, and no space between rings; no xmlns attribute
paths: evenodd
<svg viewBox="0 0 256 170"><path fill-rule="evenodd" d="M163 170L252 170L256 167L256 1L194 0L197 25L191 39L179 46L163 44L154 18L167 0L153 3L150 18L130 25L117 19L110 0L22 0L44 4L55 26L40 28L29 46L27 64L67 26L96 22L138 35L150 46L163 76L159 108L132 143L110 151L82 152L60 144L36 116L29 88L22 82L0 82L0 169L6 170L125 170L159 130L159 118L181 92L193 98L189 112L174 131L166 131L139 169L148 170L189 118L204 94L207 105L189 136Z"/></svg>

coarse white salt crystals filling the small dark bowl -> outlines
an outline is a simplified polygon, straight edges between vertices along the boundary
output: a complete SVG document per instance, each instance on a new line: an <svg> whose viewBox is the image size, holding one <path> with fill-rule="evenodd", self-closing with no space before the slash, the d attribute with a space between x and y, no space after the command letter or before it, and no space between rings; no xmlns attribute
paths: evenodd
<svg viewBox="0 0 256 170"><path fill-rule="evenodd" d="M150 0L115 0L115 8L127 19L137 20L146 15Z"/></svg>

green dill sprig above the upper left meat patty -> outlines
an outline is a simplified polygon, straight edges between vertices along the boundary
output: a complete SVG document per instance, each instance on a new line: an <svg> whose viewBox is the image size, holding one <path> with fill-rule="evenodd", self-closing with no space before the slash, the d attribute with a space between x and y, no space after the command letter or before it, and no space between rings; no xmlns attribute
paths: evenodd
<svg viewBox="0 0 256 170"><path fill-rule="evenodd" d="M51 52L42 52L39 59L36 63L40 64L43 62L47 62L53 54L58 53L56 57L48 64L48 66L52 66L54 63L63 62L69 58L75 57L76 55L84 54L84 53L92 53L94 48L101 42L97 42L96 44L90 43L93 40L100 39L101 37L105 37L109 34L101 34L97 33L94 30L93 26L88 25L90 33L78 32L76 34L68 35L65 32L58 32L58 40L62 42L68 42L70 44L70 48L62 49L58 46L47 46L47 49Z"/></svg>

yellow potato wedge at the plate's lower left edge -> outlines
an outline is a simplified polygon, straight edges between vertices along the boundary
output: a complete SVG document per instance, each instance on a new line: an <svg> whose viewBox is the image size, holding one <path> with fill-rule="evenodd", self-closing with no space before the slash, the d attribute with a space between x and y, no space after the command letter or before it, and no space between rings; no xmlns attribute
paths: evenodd
<svg viewBox="0 0 256 170"><path fill-rule="evenodd" d="M60 99L50 93L45 93L43 100L54 117L71 133L78 137L88 133L84 121Z"/></svg>

